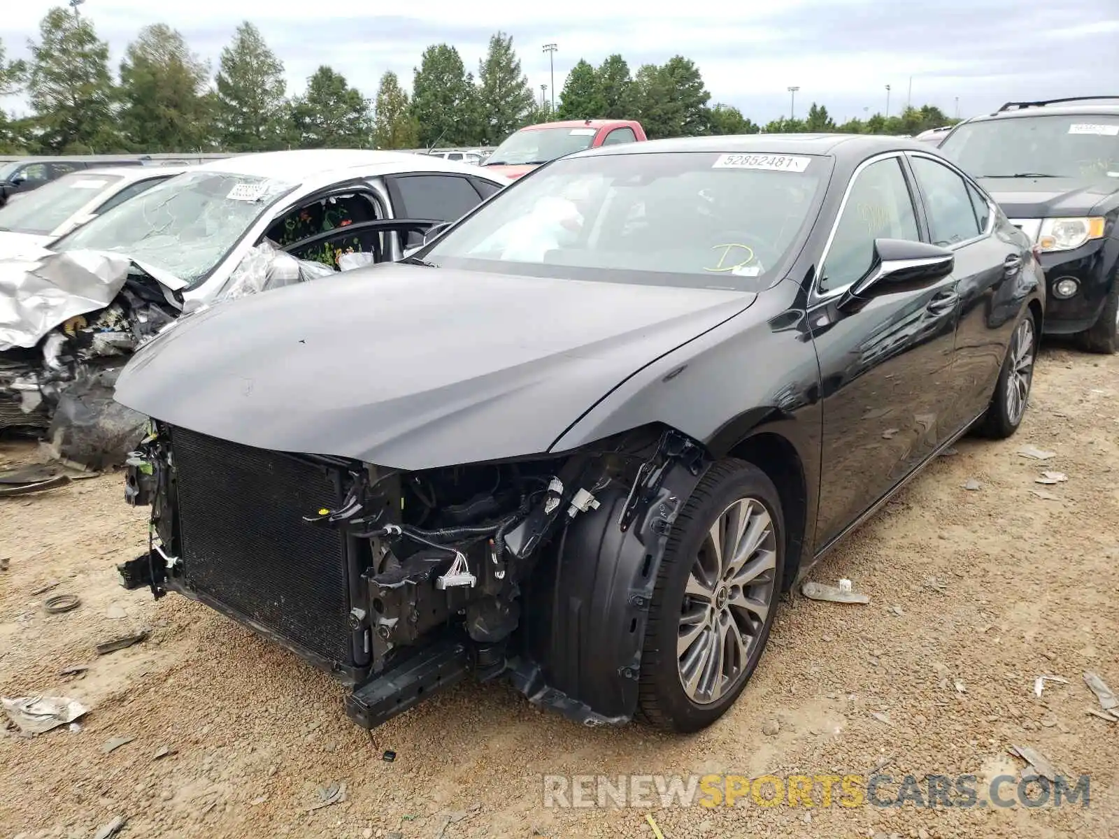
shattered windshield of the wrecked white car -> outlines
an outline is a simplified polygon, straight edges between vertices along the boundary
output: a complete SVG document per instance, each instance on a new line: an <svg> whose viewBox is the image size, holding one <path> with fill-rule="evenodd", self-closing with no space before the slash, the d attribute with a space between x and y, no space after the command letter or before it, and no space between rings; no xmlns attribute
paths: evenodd
<svg viewBox="0 0 1119 839"><path fill-rule="evenodd" d="M168 178L55 242L53 251L112 251L197 285L294 185L196 171Z"/></svg>

